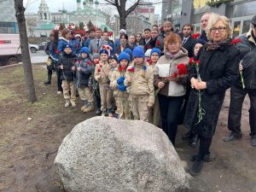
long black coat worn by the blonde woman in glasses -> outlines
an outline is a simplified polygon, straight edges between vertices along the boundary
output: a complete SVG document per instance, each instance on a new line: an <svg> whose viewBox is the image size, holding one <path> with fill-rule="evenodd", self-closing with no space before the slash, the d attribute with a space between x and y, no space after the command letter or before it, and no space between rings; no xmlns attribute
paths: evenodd
<svg viewBox="0 0 256 192"><path fill-rule="evenodd" d="M218 114L224 102L225 90L238 77L239 50L232 44L207 50L206 45L199 54L201 61L199 73L201 80L207 83L207 89L201 90L201 107L205 110L203 119L198 123L198 91L191 89L185 113L184 125L202 137L212 137L218 121ZM189 69L189 80L196 78L195 67Z"/></svg>

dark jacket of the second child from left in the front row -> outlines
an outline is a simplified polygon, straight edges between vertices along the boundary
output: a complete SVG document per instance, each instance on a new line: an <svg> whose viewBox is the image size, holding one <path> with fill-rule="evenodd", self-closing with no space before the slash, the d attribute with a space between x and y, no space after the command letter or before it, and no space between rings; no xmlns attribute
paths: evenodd
<svg viewBox="0 0 256 192"><path fill-rule="evenodd" d="M75 63L76 67L76 78L77 78L77 87L88 86L91 76L91 62L89 59L83 60L79 58ZM82 67L81 71L78 71L78 67Z"/></svg>

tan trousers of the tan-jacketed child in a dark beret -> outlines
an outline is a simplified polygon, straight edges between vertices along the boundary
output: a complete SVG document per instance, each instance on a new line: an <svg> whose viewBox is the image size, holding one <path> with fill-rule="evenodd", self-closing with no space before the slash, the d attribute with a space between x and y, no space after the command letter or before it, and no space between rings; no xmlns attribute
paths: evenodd
<svg viewBox="0 0 256 192"><path fill-rule="evenodd" d="M100 95L102 108L101 111L105 112L106 109L112 108L111 106L111 90L109 84L100 84Z"/></svg>

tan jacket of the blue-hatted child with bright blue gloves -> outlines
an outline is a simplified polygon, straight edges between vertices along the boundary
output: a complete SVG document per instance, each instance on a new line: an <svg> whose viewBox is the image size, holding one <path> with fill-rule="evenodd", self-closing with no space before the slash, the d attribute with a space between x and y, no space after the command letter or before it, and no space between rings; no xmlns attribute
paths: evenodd
<svg viewBox="0 0 256 192"><path fill-rule="evenodd" d="M128 98L127 91L118 90L117 80L120 77L125 77L125 71L115 70L111 75L110 88L113 90L113 96Z"/></svg>

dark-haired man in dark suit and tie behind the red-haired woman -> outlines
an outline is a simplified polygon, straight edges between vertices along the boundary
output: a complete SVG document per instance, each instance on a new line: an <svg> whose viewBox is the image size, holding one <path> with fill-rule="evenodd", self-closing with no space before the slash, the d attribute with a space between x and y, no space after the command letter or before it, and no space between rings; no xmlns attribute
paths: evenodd
<svg viewBox="0 0 256 192"><path fill-rule="evenodd" d="M183 26L182 46L189 52L189 57L194 56L195 39L191 37L193 27L188 23Z"/></svg>

